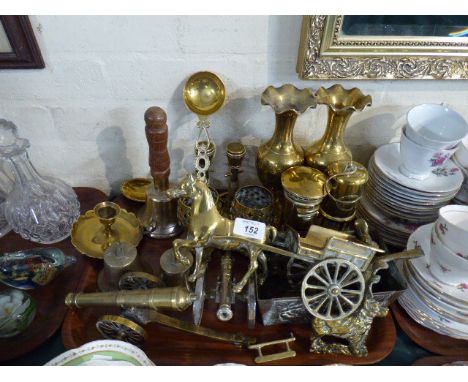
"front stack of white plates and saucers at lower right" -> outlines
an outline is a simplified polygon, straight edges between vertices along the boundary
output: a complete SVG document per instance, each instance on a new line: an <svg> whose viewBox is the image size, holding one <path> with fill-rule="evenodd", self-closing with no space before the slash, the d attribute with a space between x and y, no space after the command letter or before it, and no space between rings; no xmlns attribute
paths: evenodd
<svg viewBox="0 0 468 382"><path fill-rule="evenodd" d="M408 289L398 298L400 305L419 324L442 335L468 340L468 284L439 281L430 271L432 224L411 234L407 249L420 247L424 256L400 263Z"/></svg>

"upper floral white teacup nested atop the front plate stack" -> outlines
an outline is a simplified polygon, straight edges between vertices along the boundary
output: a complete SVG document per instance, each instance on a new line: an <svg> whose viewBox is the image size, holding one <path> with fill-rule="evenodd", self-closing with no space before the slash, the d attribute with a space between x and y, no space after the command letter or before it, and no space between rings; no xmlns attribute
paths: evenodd
<svg viewBox="0 0 468 382"><path fill-rule="evenodd" d="M468 206L442 207L434 228L444 245L468 262Z"/></svg>

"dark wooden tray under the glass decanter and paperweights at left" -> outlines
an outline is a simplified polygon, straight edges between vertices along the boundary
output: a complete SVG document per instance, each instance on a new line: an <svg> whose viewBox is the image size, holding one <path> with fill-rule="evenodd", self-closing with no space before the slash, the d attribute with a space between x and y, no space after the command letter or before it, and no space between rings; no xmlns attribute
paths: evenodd
<svg viewBox="0 0 468 382"><path fill-rule="evenodd" d="M82 213L107 199L103 192L94 188L78 187L75 188L75 191L81 204ZM65 254L76 256L77 262L64 270L49 285L26 291L37 302L36 317L23 333L12 338L0 339L0 362L26 354L52 337L60 328L67 312L66 306L63 303L65 295L67 292L75 290L78 286L78 281L84 269L85 258L75 250L69 238L60 243L50 245L42 245L24 240L13 231L0 238L2 253L44 246L60 248ZM0 290L6 288L5 285L0 285Z"/></svg>

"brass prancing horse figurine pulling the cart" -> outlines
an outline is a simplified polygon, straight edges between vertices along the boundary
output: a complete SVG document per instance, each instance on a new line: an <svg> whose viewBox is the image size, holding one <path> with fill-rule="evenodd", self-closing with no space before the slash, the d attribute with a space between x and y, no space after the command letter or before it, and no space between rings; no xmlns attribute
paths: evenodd
<svg viewBox="0 0 468 382"><path fill-rule="evenodd" d="M190 264L190 259L180 251L181 248L194 249L196 252L195 268L189 276L189 281L195 281L205 271L206 260L203 259L203 249L217 248L223 251L243 251L249 255L249 268L242 279L234 285L234 293L240 293L249 278L258 268L258 262L265 260L262 250L256 248L255 242L265 243L274 240L277 230L267 226L263 240L239 240L234 235L234 221L223 217L216 207L210 189L203 181L192 174L187 175L176 187L168 190L168 197L187 197L192 199L191 218L187 227L187 238L176 239L173 242L174 255L177 261L184 265ZM253 243L252 243L253 242Z"/></svg>

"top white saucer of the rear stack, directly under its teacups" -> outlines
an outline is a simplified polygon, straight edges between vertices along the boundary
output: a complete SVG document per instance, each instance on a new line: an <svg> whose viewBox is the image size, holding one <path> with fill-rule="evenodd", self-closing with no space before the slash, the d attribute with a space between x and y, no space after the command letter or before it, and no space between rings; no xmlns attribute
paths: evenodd
<svg viewBox="0 0 468 382"><path fill-rule="evenodd" d="M426 179L406 177L399 170L401 158L398 142L380 146L374 153L374 164L393 181L426 193L457 191L463 183L461 170L450 160L444 166L434 168Z"/></svg>

